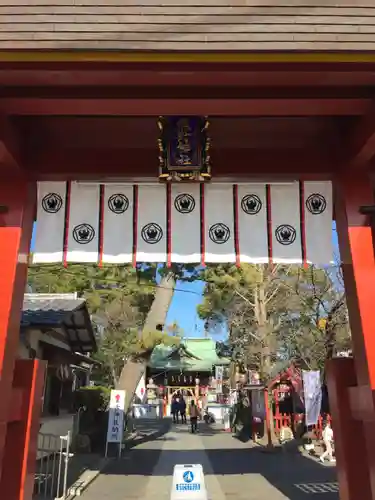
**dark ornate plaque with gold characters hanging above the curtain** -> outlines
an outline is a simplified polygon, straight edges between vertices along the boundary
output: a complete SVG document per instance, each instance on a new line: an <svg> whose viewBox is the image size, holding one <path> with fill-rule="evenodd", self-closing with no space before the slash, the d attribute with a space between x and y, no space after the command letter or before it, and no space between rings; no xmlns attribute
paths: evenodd
<svg viewBox="0 0 375 500"><path fill-rule="evenodd" d="M202 116L160 116L159 179L211 179L209 121Z"/></svg>

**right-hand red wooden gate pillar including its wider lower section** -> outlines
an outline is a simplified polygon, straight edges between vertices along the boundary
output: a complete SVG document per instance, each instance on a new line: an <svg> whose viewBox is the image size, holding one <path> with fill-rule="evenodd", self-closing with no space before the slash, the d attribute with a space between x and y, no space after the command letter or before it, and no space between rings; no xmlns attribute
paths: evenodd
<svg viewBox="0 0 375 500"><path fill-rule="evenodd" d="M375 201L361 172L336 179L334 191L354 354L327 366L340 500L374 500L375 259L371 220L360 207Z"/></svg>

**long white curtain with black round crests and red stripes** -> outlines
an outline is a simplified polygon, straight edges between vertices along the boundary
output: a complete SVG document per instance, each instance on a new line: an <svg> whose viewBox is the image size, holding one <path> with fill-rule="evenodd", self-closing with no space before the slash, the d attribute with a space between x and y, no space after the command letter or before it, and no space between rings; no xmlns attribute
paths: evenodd
<svg viewBox="0 0 375 500"><path fill-rule="evenodd" d="M41 182L36 263L330 264L330 182Z"/></svg>

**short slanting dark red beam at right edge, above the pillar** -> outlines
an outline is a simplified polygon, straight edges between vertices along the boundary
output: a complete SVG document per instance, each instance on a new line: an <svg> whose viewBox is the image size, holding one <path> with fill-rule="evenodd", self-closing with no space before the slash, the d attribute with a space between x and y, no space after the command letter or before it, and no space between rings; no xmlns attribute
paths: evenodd
<svg viewBox="0 0 375 500"><path fill-rule="evenodd" d="M365 167L375 156L375 102L352 131L349 150L351 168Z"/></svg>

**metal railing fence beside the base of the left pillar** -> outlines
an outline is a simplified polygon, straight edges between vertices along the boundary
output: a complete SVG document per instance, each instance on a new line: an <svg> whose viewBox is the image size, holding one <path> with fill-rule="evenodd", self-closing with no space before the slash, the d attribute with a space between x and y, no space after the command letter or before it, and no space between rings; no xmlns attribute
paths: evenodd
<svg viewBox="0 0 375 500"><path fill-rule="evenodd" d="M71 432L66 436L39 434L34 499L65 500L68 497L68 467L72 443Z"/></svg>

